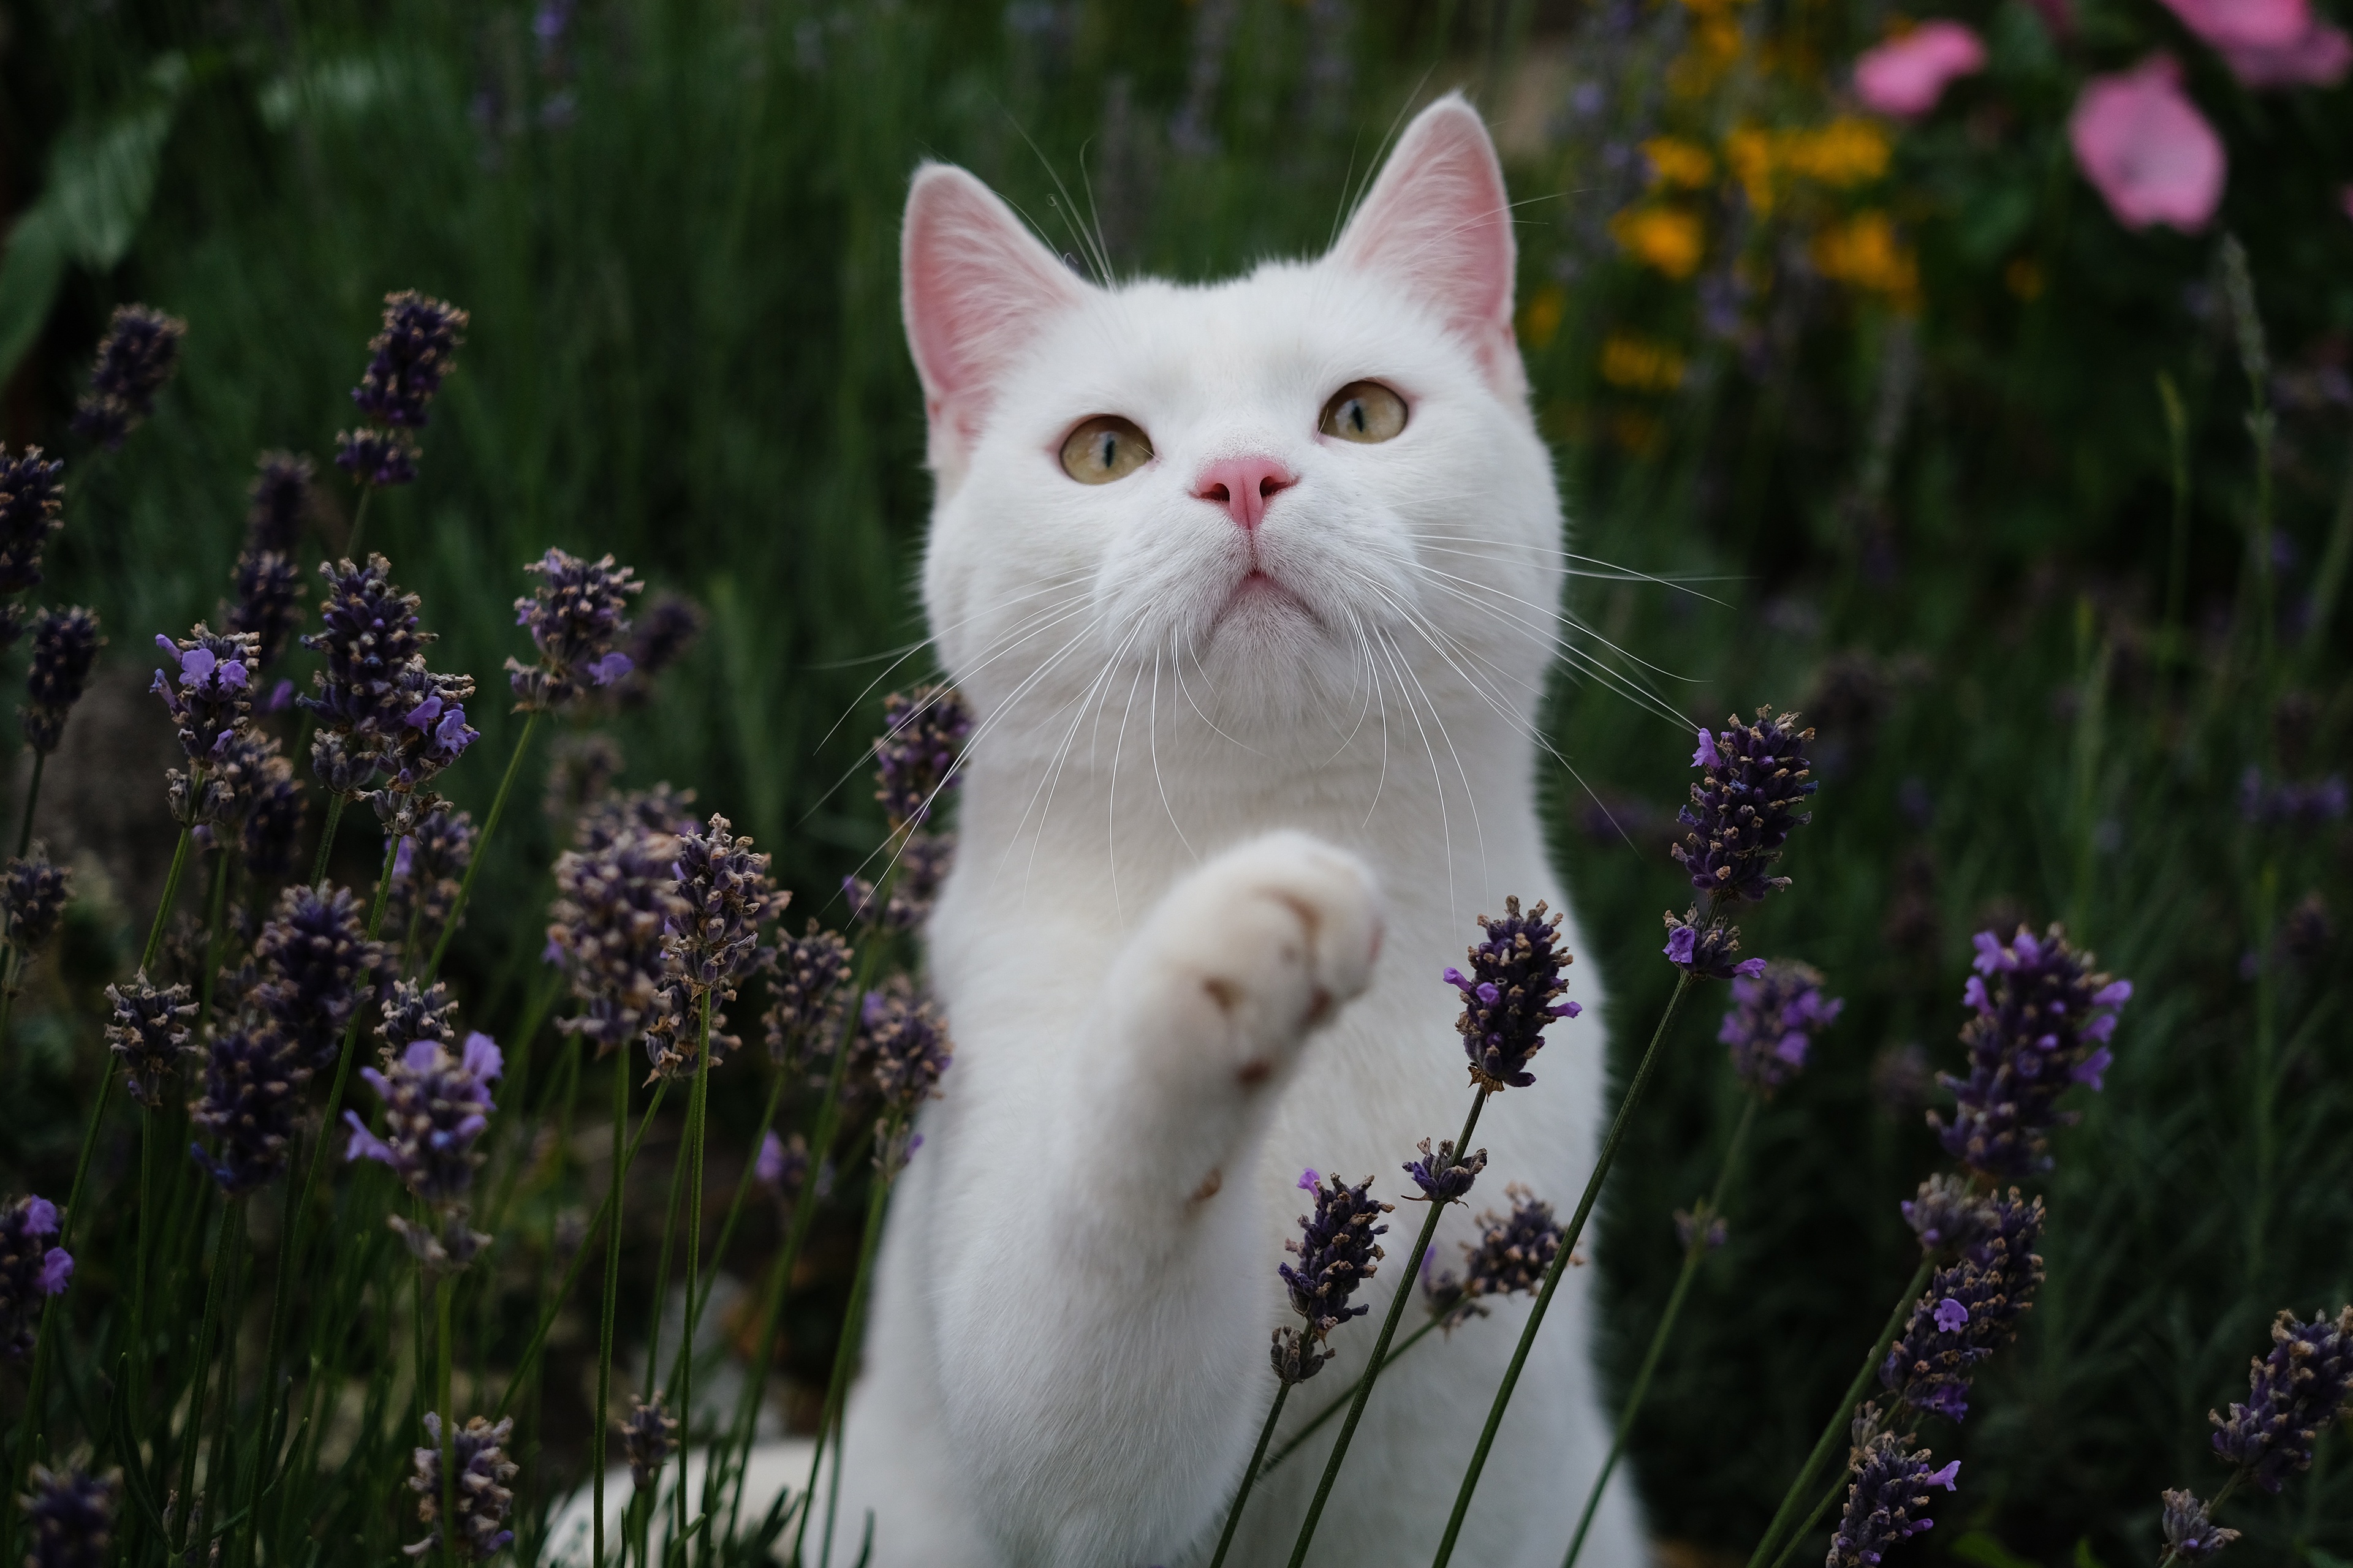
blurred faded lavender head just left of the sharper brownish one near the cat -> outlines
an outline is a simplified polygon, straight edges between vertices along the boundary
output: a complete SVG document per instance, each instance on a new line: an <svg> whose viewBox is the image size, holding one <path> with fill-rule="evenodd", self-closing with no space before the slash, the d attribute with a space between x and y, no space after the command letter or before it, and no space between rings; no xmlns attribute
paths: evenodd
<svg viewBox="0 0 2353 1568"><path fill-rule="evenodd" d="M671 879L675 853L671 835L628 827L555 860L548 947L565 959L572 994L584 1001L581 1016L558 1027L598 1041L598 1056L654 1020L666 980L664 929L689 914Z"/></svg>

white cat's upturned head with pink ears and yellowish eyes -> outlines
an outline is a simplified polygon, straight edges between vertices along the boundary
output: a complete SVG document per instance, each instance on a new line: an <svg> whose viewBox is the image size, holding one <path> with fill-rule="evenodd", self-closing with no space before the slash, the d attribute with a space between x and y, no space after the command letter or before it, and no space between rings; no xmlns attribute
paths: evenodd
<svg viewBox="0 0 2353 1568"><path fill-rule="evenodd" d="M1209 287L1096 287L925 165L904 230L925 602L984 719L1068 719L1146 672L1238 736L1346 729L1372 696L1400 724L1442 691L1529 710L1560 505L1511 292L1501 169L1459 96L1405 129L1329 254Z"/></svg>

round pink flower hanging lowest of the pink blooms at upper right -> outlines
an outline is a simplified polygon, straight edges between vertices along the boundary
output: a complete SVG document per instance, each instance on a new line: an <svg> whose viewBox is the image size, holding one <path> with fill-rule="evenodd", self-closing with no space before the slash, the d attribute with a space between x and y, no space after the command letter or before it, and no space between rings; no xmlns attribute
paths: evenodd
<svg viewBox="0 0 2353 1568"><path fill-rule="evenodd" d="M2221 136L2181 92L2172 54L2151 54L2132 71L2094 75L2068 115L2075 167L2106 197L2125 228L2207 226L2221 207L2226 160Z"/></svg>

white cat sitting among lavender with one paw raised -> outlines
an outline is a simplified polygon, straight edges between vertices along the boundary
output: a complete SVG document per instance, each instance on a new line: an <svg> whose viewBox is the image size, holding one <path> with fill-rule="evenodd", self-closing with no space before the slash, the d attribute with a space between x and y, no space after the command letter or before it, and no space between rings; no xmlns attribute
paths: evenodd
<svg viewBox="0 0 2353 1568"><path fill-rule="evenodd" d="M929 926L955 1065L892 1199L835 1552L873 1509L878 1568L1198 1563L1297 1321L1301 1168L1409 1192L1471 1095L1442 969L1506 893L1565 905L1532 738L1562 522L1511 209L1449 96L1322 261L1096 287L927 165L904 268L925 602L976 729ZM1569 980L1586 1018L1489 1103L1445 1267L1506 1182L1565 1215L1586 1180L1600 994ZM1372 1319L1285 1432L1362 1368L1419 1218L1391 1215ZM1313 1563L1431 1559L1525 1309L1384 1375ZM1588 1335L1572 1272L1459 1563L1567 1549L1607 1448ZM1285 1561L1334 1429L1257 1488L1228 1561ZM1584 1561L1640 1556L1617 1488Z"/></svg>

